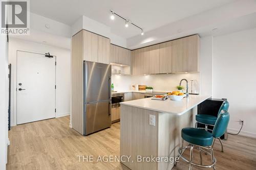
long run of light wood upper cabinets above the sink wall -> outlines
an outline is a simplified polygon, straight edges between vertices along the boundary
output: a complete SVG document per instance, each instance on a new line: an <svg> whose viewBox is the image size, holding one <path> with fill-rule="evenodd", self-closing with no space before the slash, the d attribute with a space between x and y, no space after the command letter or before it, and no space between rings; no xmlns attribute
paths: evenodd
<svg viewBox="0 0 256 170"><path fill-rule="evenodd" d="M132 71L133 75L199 72L200 37L193 35L133 50Z"/></svg>

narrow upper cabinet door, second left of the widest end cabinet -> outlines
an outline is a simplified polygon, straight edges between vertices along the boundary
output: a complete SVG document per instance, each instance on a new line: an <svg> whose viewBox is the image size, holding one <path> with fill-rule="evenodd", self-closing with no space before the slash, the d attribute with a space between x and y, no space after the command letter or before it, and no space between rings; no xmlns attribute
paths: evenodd
<svg viewBox="0 0 256 170"><path fill-rule="evenodd" d="M150 74L159 74L159 44L150 46Z"/></svg>

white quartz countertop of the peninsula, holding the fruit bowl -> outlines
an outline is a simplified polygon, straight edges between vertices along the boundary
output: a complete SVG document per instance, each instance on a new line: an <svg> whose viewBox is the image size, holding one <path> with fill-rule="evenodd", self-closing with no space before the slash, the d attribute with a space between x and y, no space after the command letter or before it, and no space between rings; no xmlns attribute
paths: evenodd
<svg viewBox="0 0 256 170"><path fill-rule="evenodd" d="M182 115L188 110L199 105L211 95L189 95L188 98L183 98L181 101L166 101L152 100L152 98L144 98L139 100L127 101L120 103L121 105L133 106L137 108L154 110L162 113L172 113L176 115Z"/></svg>

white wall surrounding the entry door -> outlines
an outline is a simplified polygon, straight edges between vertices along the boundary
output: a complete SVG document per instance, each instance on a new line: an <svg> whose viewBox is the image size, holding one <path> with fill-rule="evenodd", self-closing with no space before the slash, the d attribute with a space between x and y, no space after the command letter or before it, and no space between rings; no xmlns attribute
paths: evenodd
<svg viewBox="0 0 256 170"><path fill-rule="evenodd" d="M16 125L16 51L56 55L56 117L70 114L70 50L32 41L10 38L9 63L12 64L11 125Z"/></svg>

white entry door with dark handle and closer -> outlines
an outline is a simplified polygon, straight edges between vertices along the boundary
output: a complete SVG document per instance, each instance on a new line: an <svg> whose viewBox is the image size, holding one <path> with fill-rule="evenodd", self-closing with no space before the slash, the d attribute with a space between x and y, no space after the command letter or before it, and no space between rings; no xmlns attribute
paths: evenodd
<svg viewBox="0 0 256 170"><path fill-rule="evenodd" d="M55 117L55 59L17 51L17 124Z"/></svg>

